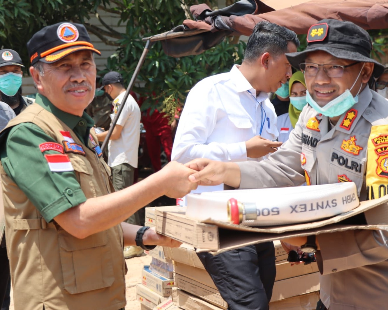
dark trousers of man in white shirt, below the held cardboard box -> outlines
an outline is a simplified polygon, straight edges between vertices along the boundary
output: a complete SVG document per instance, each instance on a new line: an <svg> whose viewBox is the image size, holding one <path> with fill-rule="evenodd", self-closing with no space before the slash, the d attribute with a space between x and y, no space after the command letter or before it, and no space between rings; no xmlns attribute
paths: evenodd
<svg viewBox="0 0 388 310"><path fill-rule="evenodd" d="M229 310L268 310L276 276L273 242L197 255Z"/></svg>

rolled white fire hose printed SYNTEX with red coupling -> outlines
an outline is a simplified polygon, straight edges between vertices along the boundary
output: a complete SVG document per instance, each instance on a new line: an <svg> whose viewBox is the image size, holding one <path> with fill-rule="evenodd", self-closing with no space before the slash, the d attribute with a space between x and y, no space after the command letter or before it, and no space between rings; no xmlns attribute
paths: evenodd
<svg viewBox="0 0 388 310"><path fill-rule="evenodd" d="M344 182L189 194L186 215L199 220L272 226L333 217L359 204L355 183Z"/></svg>

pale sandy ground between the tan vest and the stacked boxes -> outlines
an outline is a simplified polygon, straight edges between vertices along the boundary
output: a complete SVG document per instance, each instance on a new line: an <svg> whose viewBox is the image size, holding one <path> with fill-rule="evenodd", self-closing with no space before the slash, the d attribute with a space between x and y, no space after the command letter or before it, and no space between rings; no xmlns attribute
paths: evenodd
<svg viewBox="0 0 388 310"><path fill-rule="evenodd" d="M142 269L144 265L151 263L151 256L133 257L126 260L128 272L125 276L126 281L126 306L125 310L140 310L140 302L136 300L136 284L142 282ZM14 310L13 294L11 290L11 304L9 309Z"/></svg>

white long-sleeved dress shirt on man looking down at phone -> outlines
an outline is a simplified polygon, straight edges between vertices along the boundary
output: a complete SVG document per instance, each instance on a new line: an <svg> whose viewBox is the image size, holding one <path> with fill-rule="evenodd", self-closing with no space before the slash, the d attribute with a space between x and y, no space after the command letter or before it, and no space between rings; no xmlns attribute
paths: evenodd
<svg viewBox="0 0 388 310"><path fill-rule="evenodd" d="M277 117L268 94L256 97L238 68L234 65L230 72L207 77L189 92L175 134L173 160L261 160L247 157L245 141L259 135L261 127L263 138L277 138Z"/></svg>

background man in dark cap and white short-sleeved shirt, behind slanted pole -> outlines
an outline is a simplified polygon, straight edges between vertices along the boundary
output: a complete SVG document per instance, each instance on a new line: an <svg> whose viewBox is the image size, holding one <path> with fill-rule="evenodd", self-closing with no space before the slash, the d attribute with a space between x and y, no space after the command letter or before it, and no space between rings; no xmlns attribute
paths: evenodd
<svg viewBox="0 0 388 310"><path fill-rule="evenodd" d="M124 99L124 79L119 72L111 71L102 78L102 88L109 100L113 100L112 120ZM135 99L128 95L123 110L114 126L108 144L108 165L111 167L112 182L114 189L131 186L134 181L135 169L137 168L138 149L140 141L140 108ZM104 141L107 131L97 134L99 141ZM135 225L144 225L139 217L139 211L135 212L126 222ZM128 246L124 248L125 258L142 255L140 246Z"/></svg>

